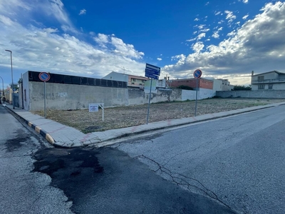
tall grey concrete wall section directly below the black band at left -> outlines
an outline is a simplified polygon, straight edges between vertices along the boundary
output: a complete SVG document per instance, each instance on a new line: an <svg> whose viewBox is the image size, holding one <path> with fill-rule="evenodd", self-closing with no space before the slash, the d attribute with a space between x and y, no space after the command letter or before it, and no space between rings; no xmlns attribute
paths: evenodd
<svg viewBox="0 0 285 214"><path fill-rule="evenodd" d="M30 81L28 86L30 90L28 110L43 110L43 82ZM104 103L106 107L128 105L128 88L46 83L46 108L61 110L88 108L89 103Z"/></svg>

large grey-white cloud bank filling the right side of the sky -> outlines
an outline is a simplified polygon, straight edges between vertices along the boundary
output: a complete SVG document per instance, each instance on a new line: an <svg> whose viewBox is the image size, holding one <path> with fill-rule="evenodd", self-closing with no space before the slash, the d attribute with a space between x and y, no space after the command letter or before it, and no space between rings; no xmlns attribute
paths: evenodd
<svg viewBox="0 0 285 214"><path fill-rule="evenodd" d="M249 83L252 70L285 71L285 3L266 4L254 19L229 33L218 45L197 42L193 54L178 55L179 60L162 70L170 76L189 76L201 68L203 76L229 78L232 83ZM172 75L173 74L173 75Z"/></svg>

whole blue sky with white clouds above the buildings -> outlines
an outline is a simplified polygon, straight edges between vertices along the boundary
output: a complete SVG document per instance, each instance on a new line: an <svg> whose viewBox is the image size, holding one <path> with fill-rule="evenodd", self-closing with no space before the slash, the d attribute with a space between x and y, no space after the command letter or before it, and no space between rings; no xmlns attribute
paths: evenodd
<svg viewBox="0 0 285 214"><path fill-rule="evenodd" d="M48 71L102 78L111 71L160 78L228 78L285 72L285 2L269 0L0 0L0 76ZM0 81L1 85L1 81Z"/></svg>

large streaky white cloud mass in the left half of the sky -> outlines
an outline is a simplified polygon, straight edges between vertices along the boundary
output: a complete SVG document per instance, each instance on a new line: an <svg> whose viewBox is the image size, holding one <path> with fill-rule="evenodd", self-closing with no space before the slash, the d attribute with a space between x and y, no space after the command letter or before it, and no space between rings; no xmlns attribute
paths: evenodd
<svg viewBox="0 0 285 214"><path fill-rule="evenodd" d="M26 16L19 22L17 11L23 10ZM59 29L36 22L32 25L33 14L55 19ZM145 63L136 61L144 56L142 52L115 35L90 32L85 36L92 36L93 44L78 39L76 36L82 33L73 28L59 0L0 0L0 26L0 46L13 50L15 70L33 69L100 78L110 71L121 71L120 67L124 66L130 73L143 75ZM7 61L8 56L0 53L0 67L9 66Z"/></svg>

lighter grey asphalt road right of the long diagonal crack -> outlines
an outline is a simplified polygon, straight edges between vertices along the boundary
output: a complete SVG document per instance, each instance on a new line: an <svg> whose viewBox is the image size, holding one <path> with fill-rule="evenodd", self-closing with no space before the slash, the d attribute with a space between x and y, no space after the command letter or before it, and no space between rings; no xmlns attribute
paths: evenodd
<svg viewBox="0 0 285 214"><path fill-rule="evenodd" d="M285 211L285 106L118 143L170 183L239 213Z"/></svg>

